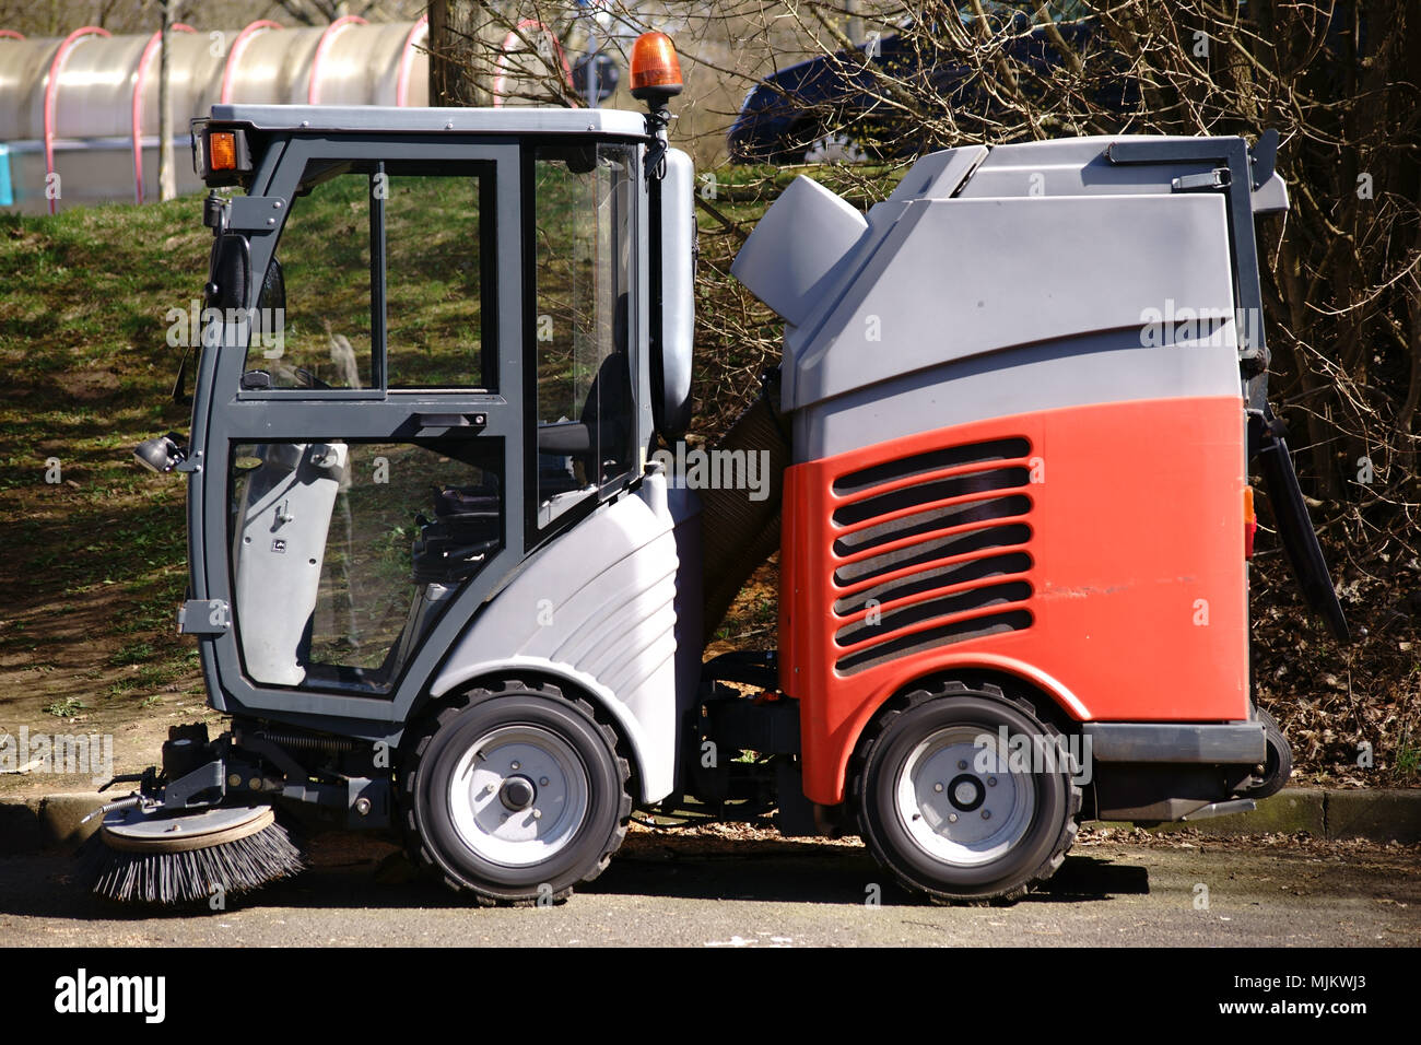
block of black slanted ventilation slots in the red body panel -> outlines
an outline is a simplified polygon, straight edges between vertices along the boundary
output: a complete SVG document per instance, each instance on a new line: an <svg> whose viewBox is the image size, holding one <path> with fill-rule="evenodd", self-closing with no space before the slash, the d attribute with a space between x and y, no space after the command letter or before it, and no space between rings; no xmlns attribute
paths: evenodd
<svg viewBox="0 0 1421 1045"><path fill-rule="evenodd" d="M833 546L840 560L834 586L858 586L834 603L841 621L834 641L860 647L837 660L838 671L865 671L935 647L1032 626L1026 604L1033 589L1025 576L1033 567L1032 499L1016 492L1030 483L1025 466L1030 451L1025 438L946 446L834 482L836 493L857 498L833 516L838 526L857 527ZM983 468L941 475L973 465ZM978 499L962 500L973 495ZM851 556L857 560L843 562ZM904 600L911 601L891 606ZM880 609L885 604L888 609ZM870 606L877 611L864 614Z"/></svg>

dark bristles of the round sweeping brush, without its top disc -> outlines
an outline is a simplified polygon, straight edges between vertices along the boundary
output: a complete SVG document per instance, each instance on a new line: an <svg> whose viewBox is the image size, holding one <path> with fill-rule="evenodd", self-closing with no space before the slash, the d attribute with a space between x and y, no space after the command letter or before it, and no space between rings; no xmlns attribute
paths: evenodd
<svg viewBox="0 0 1421 1045"><path fill-rule="evenodd" d="M306 869L286 827L185 853L118 852L95 832L80 850L80 874L99 896L121 903L180 904L252 891Z"/></svg>

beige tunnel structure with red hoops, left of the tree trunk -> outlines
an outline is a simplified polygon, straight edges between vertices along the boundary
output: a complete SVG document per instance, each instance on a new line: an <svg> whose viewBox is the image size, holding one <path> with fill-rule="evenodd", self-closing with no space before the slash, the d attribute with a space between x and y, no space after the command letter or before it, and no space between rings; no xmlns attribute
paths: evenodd
<svg viewBox="0 0 1421 1045"><path fill-rule="evenodd" d="M169 37L169 100L178 192L202 188L188 121L216 102L428 105L428 17L368 24L240 30ZM60 208L158 199L159 34L111 36L85 26L63 40L0 30L0 208Z"/></svg>

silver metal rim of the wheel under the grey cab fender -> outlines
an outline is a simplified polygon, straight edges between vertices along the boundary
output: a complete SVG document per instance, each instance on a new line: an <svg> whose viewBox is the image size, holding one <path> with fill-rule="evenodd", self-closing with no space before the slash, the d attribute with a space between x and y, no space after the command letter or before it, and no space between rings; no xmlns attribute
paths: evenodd
<svg viewBox="0 0 1421 1045"><path fill-rule="evenodd" d="M577 751L536 725L504 725L479 736L449 781L459 839L506 867L541 863L577 836L591 783Z"/></svg>

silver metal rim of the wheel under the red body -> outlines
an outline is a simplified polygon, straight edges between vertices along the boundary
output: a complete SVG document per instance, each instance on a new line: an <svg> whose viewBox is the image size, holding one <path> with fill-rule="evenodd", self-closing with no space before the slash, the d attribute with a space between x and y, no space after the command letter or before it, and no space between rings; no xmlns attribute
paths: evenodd
<svg viewBox="0 0 1421 1045"><path fill-rule="evenodd" d="M955 725L915 746L898 772L898 819L928 856L959 867L998 860L1026 837L1036 783L1012 772L1000 736Z"/></svg>

